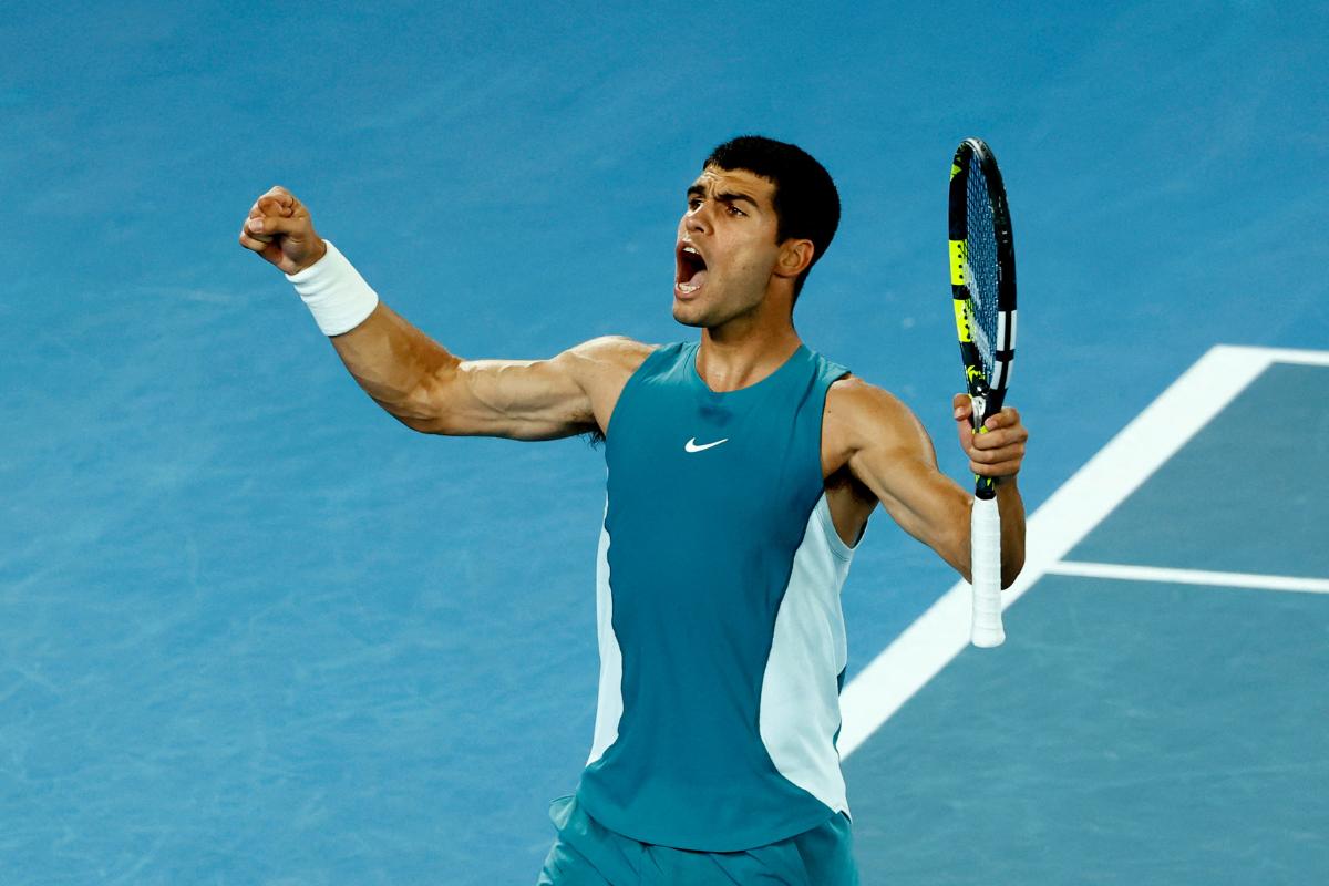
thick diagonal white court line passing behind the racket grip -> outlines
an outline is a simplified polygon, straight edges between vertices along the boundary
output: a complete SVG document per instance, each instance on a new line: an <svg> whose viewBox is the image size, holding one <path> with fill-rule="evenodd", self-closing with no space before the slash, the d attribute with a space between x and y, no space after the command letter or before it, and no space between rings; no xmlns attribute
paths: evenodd
<svg viewBox="0 0 1329 886"><path fill-rule="evenodd" d="M1329 352L1211 348L1029 518L1025 570L1002 594L1002 607L1018 600L1271 363L1329 365ZM844 688L841 758L969 644L969 584L957 582Z"/></svg>

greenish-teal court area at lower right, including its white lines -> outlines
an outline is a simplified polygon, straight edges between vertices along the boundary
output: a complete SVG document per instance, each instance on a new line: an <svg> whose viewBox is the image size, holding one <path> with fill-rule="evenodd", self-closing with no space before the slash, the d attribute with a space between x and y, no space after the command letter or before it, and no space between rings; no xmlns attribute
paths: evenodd
<svg viewBox="0 0 1329 886"><path fill-rule="evenodd" d="M847 687L864 883L1329 874L1326 388L1213 348L1033 515L1003 647L960 584Z"/></svg>

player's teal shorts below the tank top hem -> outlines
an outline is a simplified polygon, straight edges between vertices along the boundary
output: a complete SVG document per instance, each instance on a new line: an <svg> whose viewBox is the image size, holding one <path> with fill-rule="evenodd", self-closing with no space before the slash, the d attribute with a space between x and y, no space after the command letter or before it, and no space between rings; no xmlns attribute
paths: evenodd
<svg viewBox="0 0 1329 886"><path fill-rule="evenodd" d="M609 830L575 797L549 804L558 829L536 886L859 886L843 813L788 840L739 853L653 846Z"/></svg>

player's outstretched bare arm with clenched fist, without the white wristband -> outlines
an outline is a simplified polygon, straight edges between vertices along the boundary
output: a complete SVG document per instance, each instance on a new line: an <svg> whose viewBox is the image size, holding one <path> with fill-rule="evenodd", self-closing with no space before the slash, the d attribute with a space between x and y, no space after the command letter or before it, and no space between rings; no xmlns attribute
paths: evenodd
<svg viewBox="0 0 1329 886"><path fill-rule="evenodd" d="M328 252L308 211L280 187L254 203L241 244L288 275ZM363 321L330 340L364 392L408 428L510 440L602 430L613 408L606 392L614 385L607 383L625 368L630 375L650 351L606 336L549 360L462 360L381 302Z"/></svg>

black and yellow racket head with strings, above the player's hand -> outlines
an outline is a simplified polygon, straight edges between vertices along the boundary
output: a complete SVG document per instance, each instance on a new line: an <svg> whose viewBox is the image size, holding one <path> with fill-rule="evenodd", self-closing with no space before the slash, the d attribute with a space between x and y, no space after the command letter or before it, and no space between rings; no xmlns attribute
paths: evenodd
<svg viewBox="0 0 1329 886"><path fill-rule="evenodd" d="M1001 410L1015 360L1015 238L997 157L981 138L950 163L950 290L974 426ZM991 495L978 478L975 494Z"/></svg>

